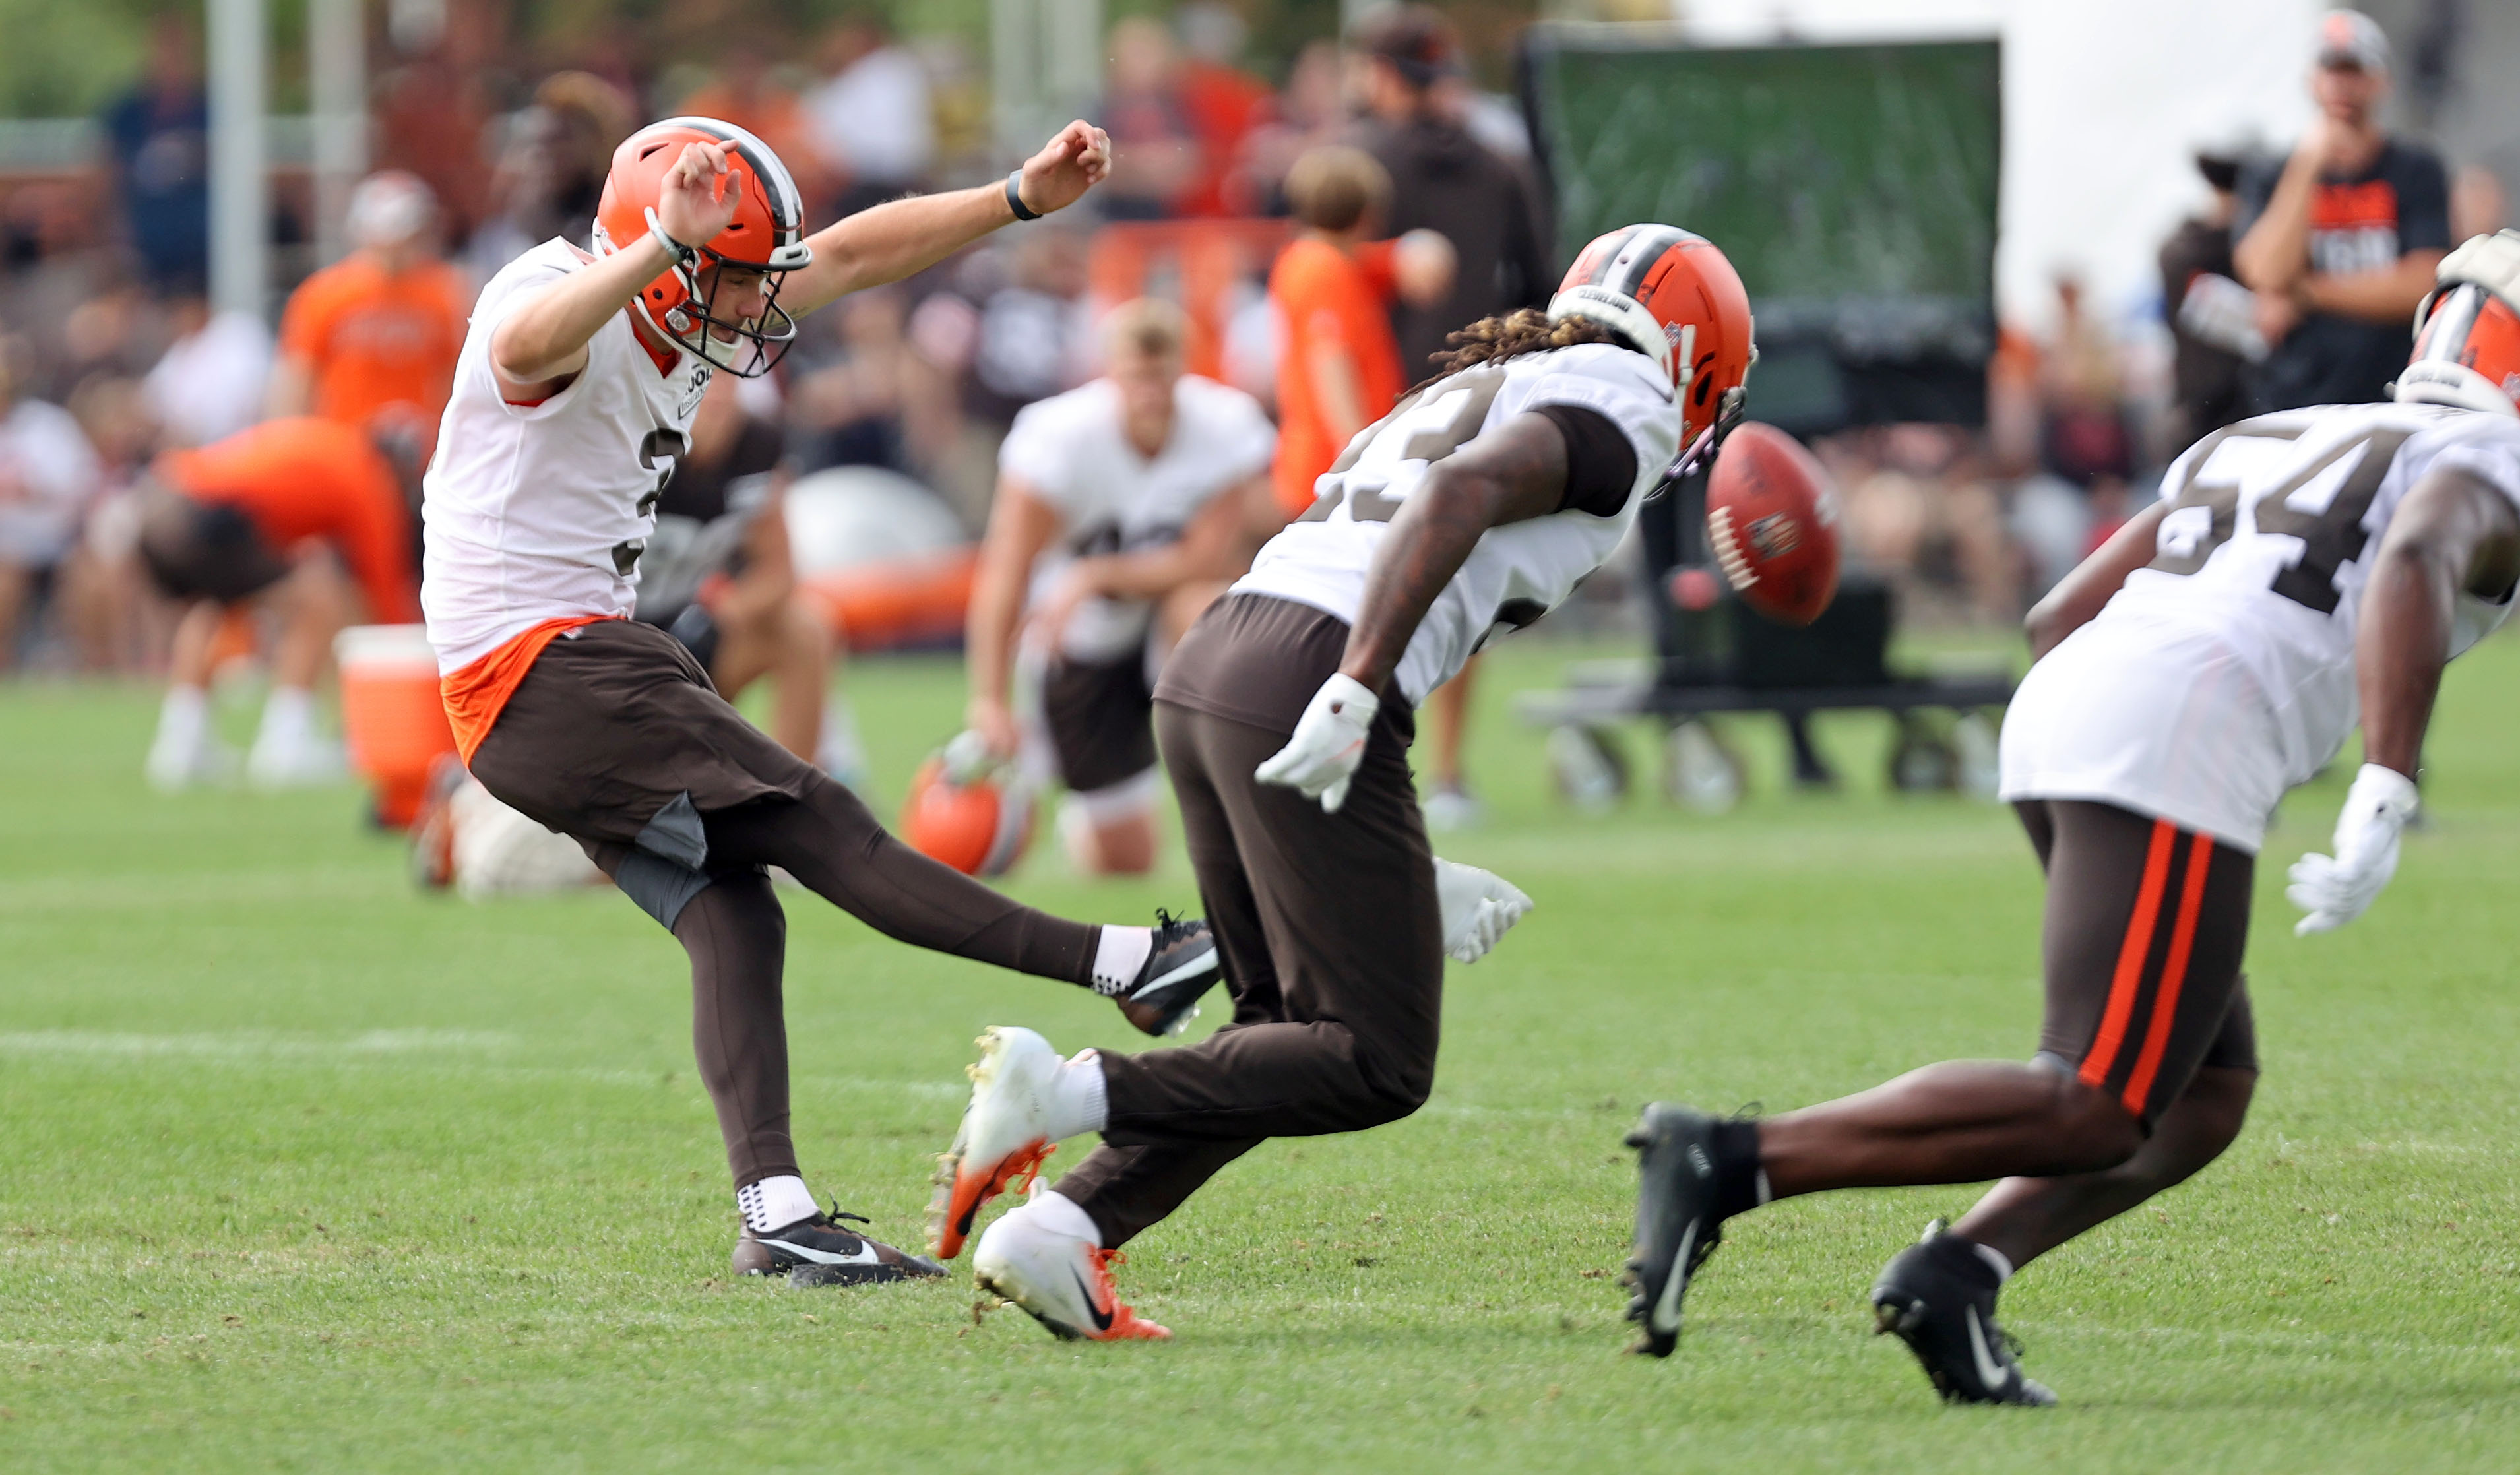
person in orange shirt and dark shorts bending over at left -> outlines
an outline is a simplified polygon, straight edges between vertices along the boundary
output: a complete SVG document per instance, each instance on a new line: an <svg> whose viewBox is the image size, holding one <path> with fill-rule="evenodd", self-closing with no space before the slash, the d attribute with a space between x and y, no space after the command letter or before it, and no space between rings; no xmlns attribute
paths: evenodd
<svg viewBox="0 0 2520 1475"><path fill-rule="evenodd" d="M227 777L232 754L209 734L212 648L229 610L255 603L280 615L280 643L244 774L265 789L338 777L340 746L320 739L312 719L333 635L360 598L370 620L421 618L403 471L365 431L295 416L197 451L166 451L139 497L141 562L166 598L186 605L166 661L149 782L184 789Z"/></svg>

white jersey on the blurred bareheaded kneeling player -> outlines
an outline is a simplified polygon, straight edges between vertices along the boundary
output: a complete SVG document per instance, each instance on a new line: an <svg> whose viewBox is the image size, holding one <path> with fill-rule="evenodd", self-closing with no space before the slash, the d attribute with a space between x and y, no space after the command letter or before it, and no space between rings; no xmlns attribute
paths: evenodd
<svg viewBox="0 0 2520 1475"><path fill-rule="evenodd" d="M998 449L998 471L1031 487L1066 522L1033 565L1033 598L1048 595L1079 557L1177 542L1202 507L1268 471L1275 454L1278 429L1260 401L1194 373L1172 388L1172 439L1154 459L1129 444L1119 386L1109 378L1026 406ZM1086 600L1058 653L1116 661L1147 643L1152 620L1147 600Z"/></svg>

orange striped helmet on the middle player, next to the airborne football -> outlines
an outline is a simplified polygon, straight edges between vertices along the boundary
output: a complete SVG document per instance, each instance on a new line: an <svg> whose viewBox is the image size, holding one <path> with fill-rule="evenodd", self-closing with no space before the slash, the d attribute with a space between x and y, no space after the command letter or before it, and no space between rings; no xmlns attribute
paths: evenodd
<svg viewBox="0 0 2520 1475"><path fill-rule="evenodd" d="M1663 366L1681 391L1681 444L1741 408L1759 363L1749 292L1724 252L1671 224L1623 224L1595 237L1550 298L1550 323L1590 318Z"/></svg>

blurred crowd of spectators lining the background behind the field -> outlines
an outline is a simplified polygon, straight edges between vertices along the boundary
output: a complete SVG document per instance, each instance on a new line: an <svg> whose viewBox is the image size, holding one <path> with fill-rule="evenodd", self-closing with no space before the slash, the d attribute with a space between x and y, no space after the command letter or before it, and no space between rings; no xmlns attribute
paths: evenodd
<svg viewBox="0 0 2520 1475"><path fill-rule="evenodd" d="M590 43L575 66L524 81L494 35L469 28L479 13L449 8L441 35L378 71L378 174L355 197L343 260L318 270L312 242L328 232L312 229L307 182L275 182L285 292L270 320L207 298L207 103L186 18L156 25L144 73L103 111L96 169L0 176L0 668L164 661L174 615L136 572L134 499L161 451L325 416L368 431L416 497L471 295L534 242L587 240L610 151L645 119L751 129L791 164L814 219L1003 169L973 58L874 18L776 55L738 40L706 66L658 71ZM2487 174L2452 176L2379 129L2389 58L2374 38L2323 40L2321 121L2298 149L2200 151L2205 204L2165 245L2150 310L2094 310L2059 272L2046 323L1998 333L1983 429L1819 441L1852 552L1900 585L1905 618L2019 618L2157 494L2195 436L2344 386L2303 361L2351 358L2364 338L2402 356L2414 298L2397 287L2429 267L2391 290L2364 277L2500 224L2502 202ZM1522 113L1479 91L1439 13L1386 8L1300 48L1275 81L1242 48L1240 13L1217 0L1119 20L1094 108L1114 176L1094 209L1000 232L809 318L779 376L733 393L726 444L794 474L897 471L978 532L1016 411L1096 371L1094 323L1119 300L1200 298L1192 368L1283 419L1318 419L1305 434L1331 444L1416 381L1446 330L1545 300L1567 242L1552 240ZM1305 159L1346 179L1366 214L1336 229L1308 219L1290 189ZM2354 214L2376 209L2371 179L2389 184L2389 219ZM1215 234L1235 255L1212 272L1184 247L1207 240L1197 222L1280 224ZM1366 292L1389 313L1396 361L1351 366L1363 376L1351 398L1336 376L1323 383L1338 393L1313 393L1303 333L1318 305L1290 315L1273 300L1275 252L1300 234L1363 272L1303 290ZM1119 250L1124 237L1137 245ZM1401 252L1394 267L1363 252L1366 237L1439 237L1444 260ZM1411 290L1396 270L1414 272ZM2349 277L2361 285L2328 290ZM2379 381L2361 378L2344 388L2376 396ZM1280 403L1285 383L1303 383L1308 403ZM1751 393L1756 414L1756 381Z"/></svg>

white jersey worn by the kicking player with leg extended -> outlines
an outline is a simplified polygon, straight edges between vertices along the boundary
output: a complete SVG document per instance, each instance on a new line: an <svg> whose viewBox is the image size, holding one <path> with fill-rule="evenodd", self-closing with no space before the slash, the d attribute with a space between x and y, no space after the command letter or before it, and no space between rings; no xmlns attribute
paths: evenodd
<svg viewBox="0 0 2520 1475"><path fill-rule="evenodd" d="M481 287L421 502L421 613L438 671L575 615L630 615L655 499L673 477L711 366L668 368L615 313L587 366L552 398L507 403L489 338L524 295L592 257L564 240L524 252Z"/></svg>

